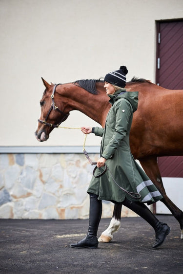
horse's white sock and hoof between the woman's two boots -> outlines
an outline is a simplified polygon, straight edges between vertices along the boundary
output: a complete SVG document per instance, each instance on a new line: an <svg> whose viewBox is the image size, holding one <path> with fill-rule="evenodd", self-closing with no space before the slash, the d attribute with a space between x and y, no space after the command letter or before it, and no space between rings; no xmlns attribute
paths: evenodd
<svg viewBox="0 0 183 274"><path fill-rule="evenodd" d="M101 237L98 238L100 243L110 242L113 238L113 234L120 229L121 222L115 218L112 218L108 228L102 232Z"/></svg>

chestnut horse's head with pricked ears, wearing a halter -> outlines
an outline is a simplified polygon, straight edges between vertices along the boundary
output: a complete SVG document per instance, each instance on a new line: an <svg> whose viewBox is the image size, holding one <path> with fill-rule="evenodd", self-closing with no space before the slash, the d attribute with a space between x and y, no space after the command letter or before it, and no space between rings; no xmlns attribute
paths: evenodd
<svg viewBox="0 0 183 274"><path fill-rule="evenodd" d="M49 138L50 132L67 119L69 113L61 110L63 106L56 92L57 86L61 84L50 85L43 78L42 81L46 89L40 101L41 115L35 135L38 141L44 142Z"/></svg>

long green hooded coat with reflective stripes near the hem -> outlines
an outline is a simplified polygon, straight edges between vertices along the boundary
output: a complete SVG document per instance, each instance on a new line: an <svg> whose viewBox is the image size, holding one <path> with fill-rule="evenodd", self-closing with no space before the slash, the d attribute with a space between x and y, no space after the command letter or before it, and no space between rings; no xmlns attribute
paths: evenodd
<svg viewBox="0 0 183 274"><path fill-rule="evenodd" d="M151 204L159 201L163 196L134 160L129 146L133 112L138 106L138 92L121 89L109 97L112 107L105 128L94 128L95 135L102 136L101 156L107 160L105 164L122 188L139 193L141 202ZM95 175L100 174L102 169L97 168ZM87 192L99 195L99 200L122 202L126 197L130 201L138 201L114 183L110 172L107 170L100 178L93 176Z"/></svg>

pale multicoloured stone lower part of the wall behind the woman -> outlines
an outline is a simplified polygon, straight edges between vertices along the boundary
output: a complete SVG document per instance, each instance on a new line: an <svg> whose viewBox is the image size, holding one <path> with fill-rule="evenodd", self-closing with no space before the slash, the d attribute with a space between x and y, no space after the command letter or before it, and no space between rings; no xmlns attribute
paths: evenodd
<svg viewBox="0 0 183 274"><path fill-rule="evenodd" d="M93 168L79 153L0 154L0 218L87 219ZM111 218L113 204L102 204L102 218ZM122 216L136 215L123 207Z"/></svg>

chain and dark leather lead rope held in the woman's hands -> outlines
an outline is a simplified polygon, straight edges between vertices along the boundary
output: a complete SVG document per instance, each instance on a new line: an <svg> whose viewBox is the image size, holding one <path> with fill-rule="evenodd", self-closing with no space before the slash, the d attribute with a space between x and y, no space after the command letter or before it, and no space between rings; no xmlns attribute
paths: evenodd
<svg viewBox="0 0 183 274"><path fill-rule="evenodd" d="M61 127L61 126L58 126L58 128L81 129L81 128ZM91 165L97 164L96 162L92 162L92 161L91 161L91 159L90 159L90 157L89 157L87 151L85 150L86 138L87 138L87 133L86 133L85 136L84 136L84 141L83 141L83 145L82 145L82 152L84 153L86 159L90 162ZM114 179L114 177L113 177L113 175L112 175L110 169L107 167L107 165L104 164L104 166L105 166L104 171L103 171L101 174L97 175L97 176L95 175L95 171L96 171L96 169L97 169L97 166L94 168L94 170L93 170L93 176L94 176L95 178L101 177L101 176L108 170L109 173L110 173L110 175L111 175L111 177L112 177L112 180L114 181L114 183L116 183L116 185L117 185L122 191L126 192L128 195L130 195L130 196L133 197L134 199L138 199L138 200L141 199L141 195L140 195L139 193L130 192L130 191L127 191L127 190L125 190L124 188L122 188L122 187L115 181L115 179ZM135 197L135 196L133 196L133 195L136 195L136 196L139 196L139 197Z"/></svg>

